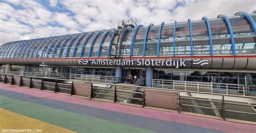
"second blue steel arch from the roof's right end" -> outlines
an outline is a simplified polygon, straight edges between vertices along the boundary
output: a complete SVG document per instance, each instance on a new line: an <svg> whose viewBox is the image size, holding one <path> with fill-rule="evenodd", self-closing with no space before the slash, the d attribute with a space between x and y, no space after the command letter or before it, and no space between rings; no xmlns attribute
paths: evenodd
<svg viewBox="0 0 256 133"><path fill-rule="evenodd" d="M227 24L228 31L230 32L232 53L233 53L233 56L235 56L235 41L234 41L234 34L233 34L232 26L230 24L230 20L224 14L220 14L217 18L224 19Z"/></svg>

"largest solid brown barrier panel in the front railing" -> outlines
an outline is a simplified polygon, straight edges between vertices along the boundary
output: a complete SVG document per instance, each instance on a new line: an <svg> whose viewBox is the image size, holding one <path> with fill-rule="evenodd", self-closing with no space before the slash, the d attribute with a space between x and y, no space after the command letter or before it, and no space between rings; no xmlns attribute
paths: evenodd
<svg viewBox="0 0 256 133"><path fill-rule="evenodd" d="M146 106L178 110L179 92L145 88Z"/></svg>

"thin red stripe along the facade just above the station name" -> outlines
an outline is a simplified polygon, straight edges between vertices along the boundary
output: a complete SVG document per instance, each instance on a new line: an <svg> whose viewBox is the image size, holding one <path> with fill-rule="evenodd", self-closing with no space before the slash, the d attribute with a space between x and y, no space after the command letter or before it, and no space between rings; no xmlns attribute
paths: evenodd
<svg viewBox="0 0 256 133"><path fill-rule="evenodd" d="M113 57L116 58L116 57ZM76 59L113 59L111 57L75 57L75 58L2 58L0 60L76 60ZM256 58L256 55L238 55L238 56L161 56L161 57L120 57L122 59L138 59L138 58L145 58L145 59L156 59L156 58Z"/></svg>

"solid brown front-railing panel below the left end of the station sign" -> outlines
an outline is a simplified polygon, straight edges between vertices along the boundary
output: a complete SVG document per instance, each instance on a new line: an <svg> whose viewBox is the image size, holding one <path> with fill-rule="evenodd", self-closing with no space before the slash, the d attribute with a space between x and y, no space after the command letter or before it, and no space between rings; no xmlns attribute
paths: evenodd
<svg viewBox="0 0 256 133"><path fill-rule="evenodd" d="M92 83L73 82L73 94L91 98Z"/></svg>

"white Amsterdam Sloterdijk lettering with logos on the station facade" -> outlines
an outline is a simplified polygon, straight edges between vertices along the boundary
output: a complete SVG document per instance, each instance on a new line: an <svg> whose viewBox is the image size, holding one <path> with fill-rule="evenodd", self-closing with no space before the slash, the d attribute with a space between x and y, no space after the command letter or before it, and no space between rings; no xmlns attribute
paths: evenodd
<svg viewBox="0 0 256 133"><path fill-rule="evenodd" d="M185 62L190 62L192 65L207 65L208 60L201 60L200 58L196 60L190 60L186 61L183 60L183 58L169 58L167 60L144 60L144 58L138 58L137 60L122 60L119 58L118 60L104 60L104 59L93 59L91 61L87 59L80 59L78 63L80 65L137 65L138 67L140 65L143 66L167 66L167 67L174 67L174 68L179 68L179 67L185 67L186 63Z"/></svg>

